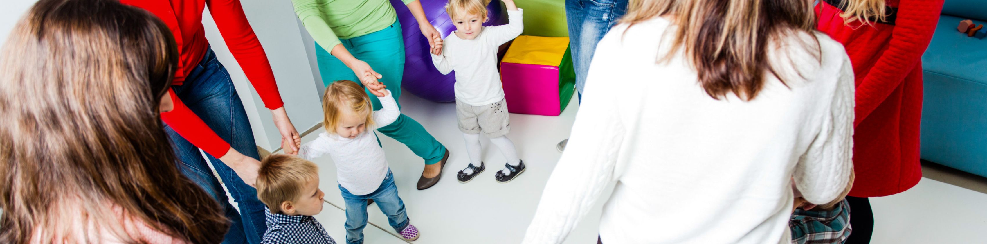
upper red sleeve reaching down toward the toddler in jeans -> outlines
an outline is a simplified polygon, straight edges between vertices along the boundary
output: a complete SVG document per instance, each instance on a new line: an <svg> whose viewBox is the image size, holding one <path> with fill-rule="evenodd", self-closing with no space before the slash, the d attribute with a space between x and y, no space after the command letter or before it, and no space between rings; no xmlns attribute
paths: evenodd
<svg viewBox="0 0 987 244"><path fill-rule="evenodd" d="M243 67L247 79L261 95L264 106L270 110L283 107L284 102L277 92L274 72L270 70L264 46L261 46L261 41L257 40L254 29L247 22L240 0L207 0L206 4L219 33L240 67Z"/></svg>

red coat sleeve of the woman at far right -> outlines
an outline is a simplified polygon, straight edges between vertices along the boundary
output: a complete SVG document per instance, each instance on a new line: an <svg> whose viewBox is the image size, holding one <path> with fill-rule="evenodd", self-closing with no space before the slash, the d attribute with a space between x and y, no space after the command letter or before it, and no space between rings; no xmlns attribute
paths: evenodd
<svg viewBox="0 0 987 244"><path fill-rule="evenodd" d="M857 118L863 122L910 73L936 32L943 0L901 0L891 41L857 86ZM879 25L879 24L878 24Z"/></svg>

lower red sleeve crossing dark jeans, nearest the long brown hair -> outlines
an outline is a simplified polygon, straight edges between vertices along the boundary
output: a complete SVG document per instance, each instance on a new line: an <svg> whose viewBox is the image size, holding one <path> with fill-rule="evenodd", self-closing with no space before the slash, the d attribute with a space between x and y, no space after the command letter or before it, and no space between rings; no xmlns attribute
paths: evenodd
<svg viewBox="0 0 987 244"><path fill-rule="evenodd" d="M226 143L226 140L220 138L216 132L212 131L212 128L209 128L209 125L206 125L202 119L192 113L189 107L186 107L182 100L175 96L175 91L169 88L168 94L172 97L175 109L171 112L161 113L161 120L168 123L168 126L175 129L175 132L178 132L205 153L216 158L226 155L226 151L230 150L230 144Z"/></svg>

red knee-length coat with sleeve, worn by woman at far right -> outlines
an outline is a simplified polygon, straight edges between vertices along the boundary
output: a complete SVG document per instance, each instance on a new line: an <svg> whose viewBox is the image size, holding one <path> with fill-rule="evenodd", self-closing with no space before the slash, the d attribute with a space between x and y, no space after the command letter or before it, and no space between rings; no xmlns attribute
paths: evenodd
<svg viewBox="0 0 987 244"><path fill-rule="evenodd" d="M840 9L820 1L819 31L846 47L857 80L850 196L894 195L918 184L922 53L932 41L943 0L887 0L895 25L844 25Z"/></svg>

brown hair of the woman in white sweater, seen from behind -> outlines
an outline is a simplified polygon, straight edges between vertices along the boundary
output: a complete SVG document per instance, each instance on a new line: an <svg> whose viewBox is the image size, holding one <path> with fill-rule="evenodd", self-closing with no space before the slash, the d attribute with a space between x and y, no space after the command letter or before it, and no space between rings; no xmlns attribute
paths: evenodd
<svg viewBox="0 0 987 244"><path fill-rule="evenodd" d="M622 22L632 26L670 16L678 28L671 48L658 61L670 60L684 48L699 83L718 100L727 93L753 100L766 73L781 79L769 61L769 47L815 30L811 1L805 0L631 0L629 10ZM815 41L818 58L822 50Z"/></svg>

